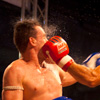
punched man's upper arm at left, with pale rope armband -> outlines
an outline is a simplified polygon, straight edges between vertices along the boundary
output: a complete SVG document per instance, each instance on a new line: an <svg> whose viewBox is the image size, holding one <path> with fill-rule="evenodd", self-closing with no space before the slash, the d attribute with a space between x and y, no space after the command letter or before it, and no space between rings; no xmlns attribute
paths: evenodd
<svg viewBox="0 0 100 100"><path fill-rule="evenodd" d="M21 68L15 64L8 66L3 75L3 88L6 86L17 86L23 88L22 86L22 71ZM2 90L2 100L23 100L23 90L21 89L7 89Z"/></svg>

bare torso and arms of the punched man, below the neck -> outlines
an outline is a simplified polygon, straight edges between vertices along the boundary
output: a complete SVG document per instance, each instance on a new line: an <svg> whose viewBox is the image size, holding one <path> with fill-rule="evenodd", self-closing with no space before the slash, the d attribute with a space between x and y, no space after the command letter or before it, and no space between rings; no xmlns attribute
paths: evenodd
<svg viewBox="0 0 100 100"><path fill-rule="evenodd" d="M71 82L70 82L71 81ZM62 96L62 86L69 86L76 80L56 64L43 62L41 67L17 60L12 62L3 75L2 100L53 100ZM11 89L13 86L24 88Z"/></svg>

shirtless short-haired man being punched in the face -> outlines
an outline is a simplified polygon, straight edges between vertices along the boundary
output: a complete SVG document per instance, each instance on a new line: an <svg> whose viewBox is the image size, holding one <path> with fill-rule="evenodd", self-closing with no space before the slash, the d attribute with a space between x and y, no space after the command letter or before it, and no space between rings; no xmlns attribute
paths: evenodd
<svg viewBox="0 0 100 100"><path fill-rule="evenodd" d="M41 48L47 38L37 21L18 21L13 38L21 58L4 71L2 100L52 100L62 96L62 87L76 82L43 56Z"/></svg>

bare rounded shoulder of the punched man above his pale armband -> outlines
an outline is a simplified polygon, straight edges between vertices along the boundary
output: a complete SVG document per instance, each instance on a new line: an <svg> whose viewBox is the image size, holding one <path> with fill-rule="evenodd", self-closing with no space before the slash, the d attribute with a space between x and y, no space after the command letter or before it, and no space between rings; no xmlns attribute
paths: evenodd
<svg viewBox="0 0 100 100"><path fill-rule="evenodd" d="M21 60L13 61L4 71L3 85L18 85L22 84L22 79L25 74L24 62Z"/></svg>

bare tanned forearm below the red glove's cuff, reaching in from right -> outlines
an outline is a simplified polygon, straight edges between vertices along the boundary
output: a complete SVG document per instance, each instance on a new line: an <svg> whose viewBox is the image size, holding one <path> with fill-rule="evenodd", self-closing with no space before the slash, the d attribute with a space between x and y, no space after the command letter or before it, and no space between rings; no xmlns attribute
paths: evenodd
<svg viewBox="0 0 100 100"><path fill-rule="evenodd" d="M84 65L73 62L68 68L68 72L81 84L88 87L96 87L100 85L100 66L94 70Z"/></svg>

